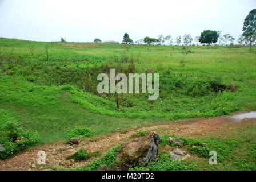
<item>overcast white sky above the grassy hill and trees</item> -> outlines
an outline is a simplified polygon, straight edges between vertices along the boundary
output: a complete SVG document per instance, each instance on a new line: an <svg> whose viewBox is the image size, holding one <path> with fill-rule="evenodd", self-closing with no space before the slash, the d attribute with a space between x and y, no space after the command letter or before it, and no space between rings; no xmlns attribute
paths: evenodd
<svg viewBox="0 0 256 182"><path fill-rule="evenodd" d="M238 38L256 0L0 0L0 37L69 42L199 36L205 29Z"/></svg>

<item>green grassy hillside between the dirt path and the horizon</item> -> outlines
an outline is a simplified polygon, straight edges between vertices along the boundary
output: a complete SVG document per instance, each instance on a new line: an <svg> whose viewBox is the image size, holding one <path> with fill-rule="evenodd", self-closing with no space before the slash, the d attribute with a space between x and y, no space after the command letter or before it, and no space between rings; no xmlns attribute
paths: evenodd
<svg viewBox="0 0 256 182"><path fill-rule="evenodd" d="M0 112L17 115L24 127L53 142L79 125L99 134L118 127L253 110L254 49L0 38ZM110 68L122 73L159 73L158 100L131 94L117 110L111 94L97 93L98 74L109 73Z"/></svg>

